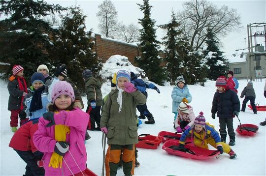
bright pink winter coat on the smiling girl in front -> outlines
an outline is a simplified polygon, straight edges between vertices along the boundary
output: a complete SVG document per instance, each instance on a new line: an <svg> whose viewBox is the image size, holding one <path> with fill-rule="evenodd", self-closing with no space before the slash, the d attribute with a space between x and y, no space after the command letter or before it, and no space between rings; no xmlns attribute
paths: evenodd
<svg viewBox="0 0 266 176"><path fill-rule="evenodd" d="M74 109L72 111L61 111L58 114L54 114L56 124L64 124L69 126L70 134L66 135L66 142L69 145L69 151L74 157L77 164L75 164L69 151L64 155L62 168L54 169L48 167L52 153L54 152L56 140L55 140L55 125L46 127L50 121L45 120L43 117L39 118L38 130L33 135L33 142L35 147L43 152L42 161L44 163L45 176L70 176L72 175L68 167L73 174L84 171L87 161L86 147L84 145L85 132L87 129L89 115L80 109ZM77 166L78 165L78 166ZM79 168L80 169L79 169Z"/></svg>

